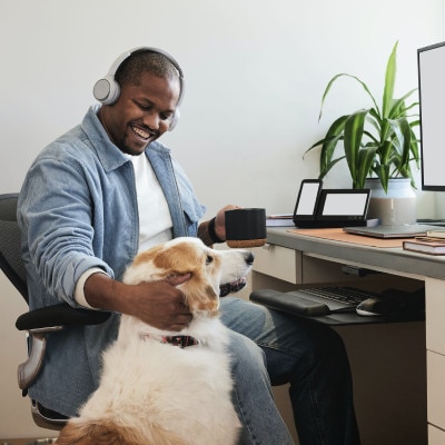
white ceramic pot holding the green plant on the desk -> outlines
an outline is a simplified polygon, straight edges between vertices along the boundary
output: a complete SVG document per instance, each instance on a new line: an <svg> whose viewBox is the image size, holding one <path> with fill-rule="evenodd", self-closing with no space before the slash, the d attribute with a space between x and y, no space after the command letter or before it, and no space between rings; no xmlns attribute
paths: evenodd
<svg viewBox="0 0 445 445"><path fill-rule="evenodd" d="M368 218L378 218L384 226L416 222L416 194L409 178L389 179L385 194L378 178L365 181L370 188Z"/></svg>

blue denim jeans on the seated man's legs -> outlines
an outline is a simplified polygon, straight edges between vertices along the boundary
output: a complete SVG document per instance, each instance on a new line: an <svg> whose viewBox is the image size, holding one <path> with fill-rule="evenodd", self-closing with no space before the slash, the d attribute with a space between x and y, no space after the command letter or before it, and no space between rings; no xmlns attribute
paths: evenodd
<svg viewBox="0 0 445 445"><path fill-rule="evenodd" d="M238 298L222 298L220 309L222 323L235 332L234 400L244 425L240 444L294 443L270 388L286 383L300 445L360 443L349 362L335 330Z"/></svg>

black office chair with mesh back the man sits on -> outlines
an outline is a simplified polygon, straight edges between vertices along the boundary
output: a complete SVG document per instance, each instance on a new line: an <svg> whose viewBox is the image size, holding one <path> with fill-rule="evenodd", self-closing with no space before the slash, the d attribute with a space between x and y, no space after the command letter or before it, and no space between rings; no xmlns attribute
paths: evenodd
<svg viewBox="0 0 445 445"><path fill-rule="evenodd" d="M17 224L17 200L18 194L0 195L0 269L28 304L27 275L20 254L21 235ZM107 312L73 308L65 303L20 315L16 327L29 335L29 358L18 368L19 387L23 396L28 394L28 387L43 364L48 335L57 335L58 330L69 325L97 325L109 316L110 313ZM31 400L31 413L34 423L43 428L61 429L67 422L66 416L44 408L36 400Z"/></svg>

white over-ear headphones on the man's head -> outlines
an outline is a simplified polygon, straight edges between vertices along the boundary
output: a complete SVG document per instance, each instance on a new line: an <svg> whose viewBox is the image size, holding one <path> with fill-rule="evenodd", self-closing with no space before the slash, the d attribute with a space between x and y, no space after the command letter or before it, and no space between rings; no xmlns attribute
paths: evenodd
<svg viewBox="0 0 445 445"><path fill-rule="evenodd" d="M179 105L180 105L180 102L182 100L182 96L184 96L184 75L182 75L182 70L179 67L179 63L176 61L176 59L172 56L170 56L168 52L162 51L161 49L151 48L151 47L139 47L139 48L134 48L130 51L123 52L115 60L110 70L108 71L107 76L105 76L102 79L99 79L95 83L92 93L95 95L95 98L103 105L115 103L118 100L119 95L120 95L120 86L115 80L116 71L118 70L120 65L123 62L123 60L129 58L135 51L139 51L139 50L157 52L159 55L165 56L178 71L180 91L179 91L179 99L178 99L178 103L177 103L177 107L175 110L175 115L171 119L170 127L168 128L168 130L171 131L178 123L179 116L180 116Z"/></svg>

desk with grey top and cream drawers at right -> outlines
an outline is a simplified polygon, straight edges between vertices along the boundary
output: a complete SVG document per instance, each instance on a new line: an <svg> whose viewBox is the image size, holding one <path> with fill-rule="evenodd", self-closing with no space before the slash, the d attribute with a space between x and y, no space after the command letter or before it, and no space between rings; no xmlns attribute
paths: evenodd
<svg viewBox="0 0 445 445"><path fill-rule="evenodd" d="M352 362L363 443L445 444L445 257L296 235L289 228L268 228L267 243L255 249L253 289L288 291L339 281L374 290L425 286L425 323L336 329ZM373 273L345 275L344 265Z"/></svg>

